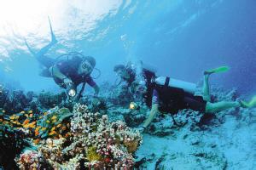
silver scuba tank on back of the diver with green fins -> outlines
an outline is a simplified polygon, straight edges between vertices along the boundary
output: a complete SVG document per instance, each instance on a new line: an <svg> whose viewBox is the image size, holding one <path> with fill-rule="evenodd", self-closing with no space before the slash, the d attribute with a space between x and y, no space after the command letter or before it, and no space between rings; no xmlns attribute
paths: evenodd
<svg viewBox="0 0 256 170"><path fill-rule="evenodd" d="M195 94L196 84L192 82L184 82L170 77L156 77L154 82L158 85L168 86L172 88L182 88L189 94Z"/></svg>

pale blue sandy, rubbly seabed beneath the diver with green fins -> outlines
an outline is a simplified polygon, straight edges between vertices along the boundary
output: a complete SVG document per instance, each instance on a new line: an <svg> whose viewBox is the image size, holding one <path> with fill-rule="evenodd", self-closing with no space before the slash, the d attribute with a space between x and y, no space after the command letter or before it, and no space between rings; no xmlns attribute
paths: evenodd
<svg viewBox="0 0 256 170"><path fill-rule="evenodd" d="M236 100L236 90L213 88L212 100ZM183 110L158 115L143 135L135 167L142 169L253 169L255 109L215 115ZM249 147L248 147L249 146ZM150 148L150 150L148 150Z"/></svg>

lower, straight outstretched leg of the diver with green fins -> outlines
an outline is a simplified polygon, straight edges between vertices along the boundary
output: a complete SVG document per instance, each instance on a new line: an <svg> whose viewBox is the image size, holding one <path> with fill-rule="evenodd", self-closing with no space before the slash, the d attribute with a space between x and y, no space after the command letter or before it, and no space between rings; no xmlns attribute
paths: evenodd
<svg viewBox="0 0 256 170"><path fill-rule="evenodd" d="M224 111L226 109L240 107L241 104L238 101L220 101L218 103L207 102L206 112L214 113L218 111Z"/></svg>

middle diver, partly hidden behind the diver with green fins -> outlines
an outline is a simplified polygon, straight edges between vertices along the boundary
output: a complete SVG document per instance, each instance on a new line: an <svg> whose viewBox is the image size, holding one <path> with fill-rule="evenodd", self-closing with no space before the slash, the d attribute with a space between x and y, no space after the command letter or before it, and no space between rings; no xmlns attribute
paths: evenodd
<svg viewBox="0 0 256 170"><path fill-rule="evenodd" d="M120 81L117 83L119 85L121 82L126 82L128 87L131 87L131 83L135 81L136 71L132 68L131 63L127 65L115 65L113 71L119 76Z"/></svg>

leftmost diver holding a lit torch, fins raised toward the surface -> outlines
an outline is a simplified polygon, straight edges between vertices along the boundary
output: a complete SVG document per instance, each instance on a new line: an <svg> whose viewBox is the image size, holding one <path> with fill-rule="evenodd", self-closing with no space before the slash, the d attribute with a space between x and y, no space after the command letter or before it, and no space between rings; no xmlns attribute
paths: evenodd
<svg viewBox="0 0 256 170"><path fill-rule="evenodd" d="M39 50L38 53L33 52L32 48L25 40L26 47L30 53L35 56L36 59L38 59L38 62L41 65L44 66L40 76L54 78L54 81L61 88L65 88L67 90L69 99L79 99L82 97L85 83L88 83L90 87L94 88L95 95L97 95L100 88L97 86L96 82L93 81L93 78L90 77L90 73L95 68L96 59L76 52L61 55L66 56L67 59L59 59L61 56L57 59L46 57L45 54L49 51L49 48L51 48L57 42L50 20L49 28L51 33L51 42ZM83 86L78 94L77 87L80 83L83 83Z"/></svg>

